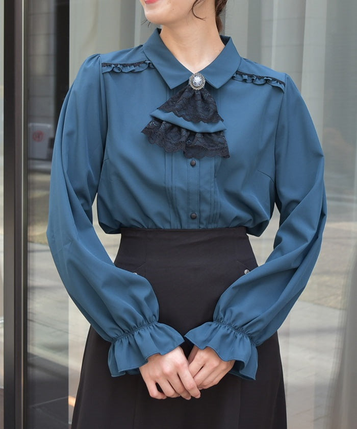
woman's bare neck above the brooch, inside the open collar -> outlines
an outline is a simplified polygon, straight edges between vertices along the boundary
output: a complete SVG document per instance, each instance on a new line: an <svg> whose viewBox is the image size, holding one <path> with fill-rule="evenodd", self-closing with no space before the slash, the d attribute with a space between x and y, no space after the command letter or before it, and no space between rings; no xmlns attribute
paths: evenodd
<svg viewBox="0 0 357 429"><path fill-rule="evenodd" d="M192 73L209 65L224 48L215 17L194 18L185 26L162 26L160 37L172 55Z"/></svg>

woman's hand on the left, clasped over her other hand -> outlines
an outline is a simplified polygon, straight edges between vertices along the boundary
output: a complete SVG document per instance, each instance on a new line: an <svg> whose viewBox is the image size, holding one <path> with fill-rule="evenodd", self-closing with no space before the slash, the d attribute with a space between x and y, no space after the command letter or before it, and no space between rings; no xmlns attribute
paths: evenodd
<svg viewBox="0 0 357 429"><path fill-rule="evenodd" d="M188 369L188 361L182 347L176 347L166 354L155 353L147 358L147 364L139 367L149 395L156 399L182 396L201 396ZM159 392L156 383L161 387Z"/></svg>

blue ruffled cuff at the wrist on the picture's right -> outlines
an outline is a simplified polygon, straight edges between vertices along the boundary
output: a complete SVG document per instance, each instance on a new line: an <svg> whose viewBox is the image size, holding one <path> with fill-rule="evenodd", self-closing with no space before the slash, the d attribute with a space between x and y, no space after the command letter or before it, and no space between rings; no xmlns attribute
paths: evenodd
<svg viewBox="0 0 357 429"><path fill-rule="evenodd" d="M211 347L223 361L236 360L231 374L256 379L256 344L242 331L220 322L206 322L189 330L185 338L198 348Z"/></svg>

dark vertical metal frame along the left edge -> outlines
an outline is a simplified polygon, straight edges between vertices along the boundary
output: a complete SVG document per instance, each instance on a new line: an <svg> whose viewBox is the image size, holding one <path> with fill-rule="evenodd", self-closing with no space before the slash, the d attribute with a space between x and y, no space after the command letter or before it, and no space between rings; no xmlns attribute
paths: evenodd
<svg viewBox="0 0 357 429"><path fill-rule="evenodd" d="M27 177L25 1L4 3L4 425L25 428Z"/></svg>

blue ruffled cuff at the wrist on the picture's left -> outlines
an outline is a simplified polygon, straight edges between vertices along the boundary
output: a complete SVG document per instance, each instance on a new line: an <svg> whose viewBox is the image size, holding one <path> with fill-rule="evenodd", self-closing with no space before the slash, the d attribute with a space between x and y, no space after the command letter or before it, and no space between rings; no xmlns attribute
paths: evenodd
<svg viewBox="0 0 357 429"><path fill-rule="evenodd" d="M139 374L139 367L155 353L165 354L184 342L182 335L169 325L152 322L112 342L108 365L113 377Z"/></svg>

